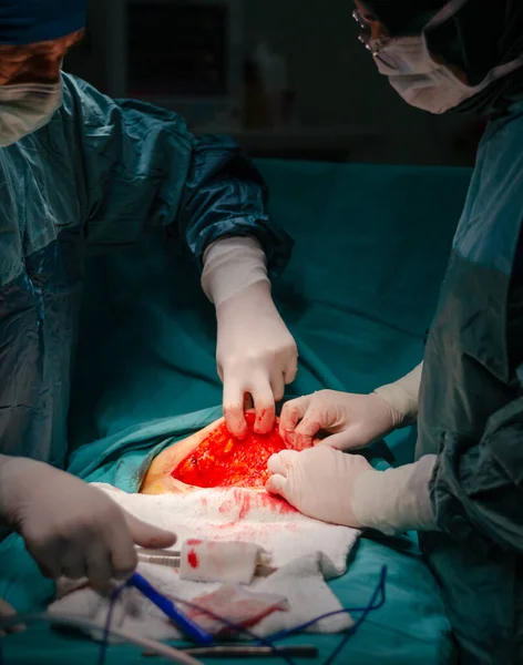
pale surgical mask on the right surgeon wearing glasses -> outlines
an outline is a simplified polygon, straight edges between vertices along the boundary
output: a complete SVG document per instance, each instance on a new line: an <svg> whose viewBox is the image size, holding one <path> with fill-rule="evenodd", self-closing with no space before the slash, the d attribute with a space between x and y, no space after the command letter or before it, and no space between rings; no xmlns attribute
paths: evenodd
<svg viewBox="0 0 523 665"><path fill-rule="evenodd" d="M427 23L420 37L368 40L381 74L412 106L445 113L476 95L493 81L506 76L523 65L523 53L515 60L491 70L478 85L468 85L447 65L430 54L427 35L455 14L468 0L451 0Z"/></svg>

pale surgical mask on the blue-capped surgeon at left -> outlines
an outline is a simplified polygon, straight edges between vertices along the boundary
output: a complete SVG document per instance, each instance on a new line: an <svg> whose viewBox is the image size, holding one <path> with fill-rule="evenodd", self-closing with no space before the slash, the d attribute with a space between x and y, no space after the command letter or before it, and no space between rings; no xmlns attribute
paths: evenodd
<svg viewBox="0 0 523 665"><path fill-rule="evenodd" d="M43 127L61 105L61 82L0 85L0 146Z"/></svg>

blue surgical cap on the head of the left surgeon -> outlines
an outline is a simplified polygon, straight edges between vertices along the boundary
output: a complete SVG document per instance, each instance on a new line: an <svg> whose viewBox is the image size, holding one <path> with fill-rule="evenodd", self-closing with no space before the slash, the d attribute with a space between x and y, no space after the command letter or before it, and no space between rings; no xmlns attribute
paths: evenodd
<svg viewBox="0 0 523 665"><path fill-rule="evenodd" d="M85 25L88 0L0 0L0 44L32 44Z"/></svg>

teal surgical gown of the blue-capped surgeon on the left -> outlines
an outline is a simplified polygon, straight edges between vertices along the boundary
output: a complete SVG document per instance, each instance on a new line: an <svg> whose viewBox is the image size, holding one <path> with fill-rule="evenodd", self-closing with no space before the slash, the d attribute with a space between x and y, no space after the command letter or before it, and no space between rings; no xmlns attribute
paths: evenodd
<svg viewBox="0 0 523 665"><path fill-rule="evenodd" d="M290 250L233 142L196 139L173 113L62 81L51 122L0 150L0 452L57 467L86 250L130 245L144 225L164 227L199 263L227 235L256 237L271 270Z"/></svg>

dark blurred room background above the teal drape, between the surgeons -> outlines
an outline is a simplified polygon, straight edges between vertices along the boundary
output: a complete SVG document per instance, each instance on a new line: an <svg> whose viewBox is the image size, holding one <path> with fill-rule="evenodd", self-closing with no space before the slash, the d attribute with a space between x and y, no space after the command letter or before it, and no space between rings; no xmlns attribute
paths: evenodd
<svg viewBox="0 0 523 665"><path fill-rule="evenodd" d="M409 108L358 41L351 0L89 1L86 39L64 69L112 96L176 110L194 131L227 132L255 156L473 164L481 125ZM262 42L287 70L276 112L255 55ZM227 100L232 80L242 98L233 121L202 121L197 103L185 104Z"/></svg>

